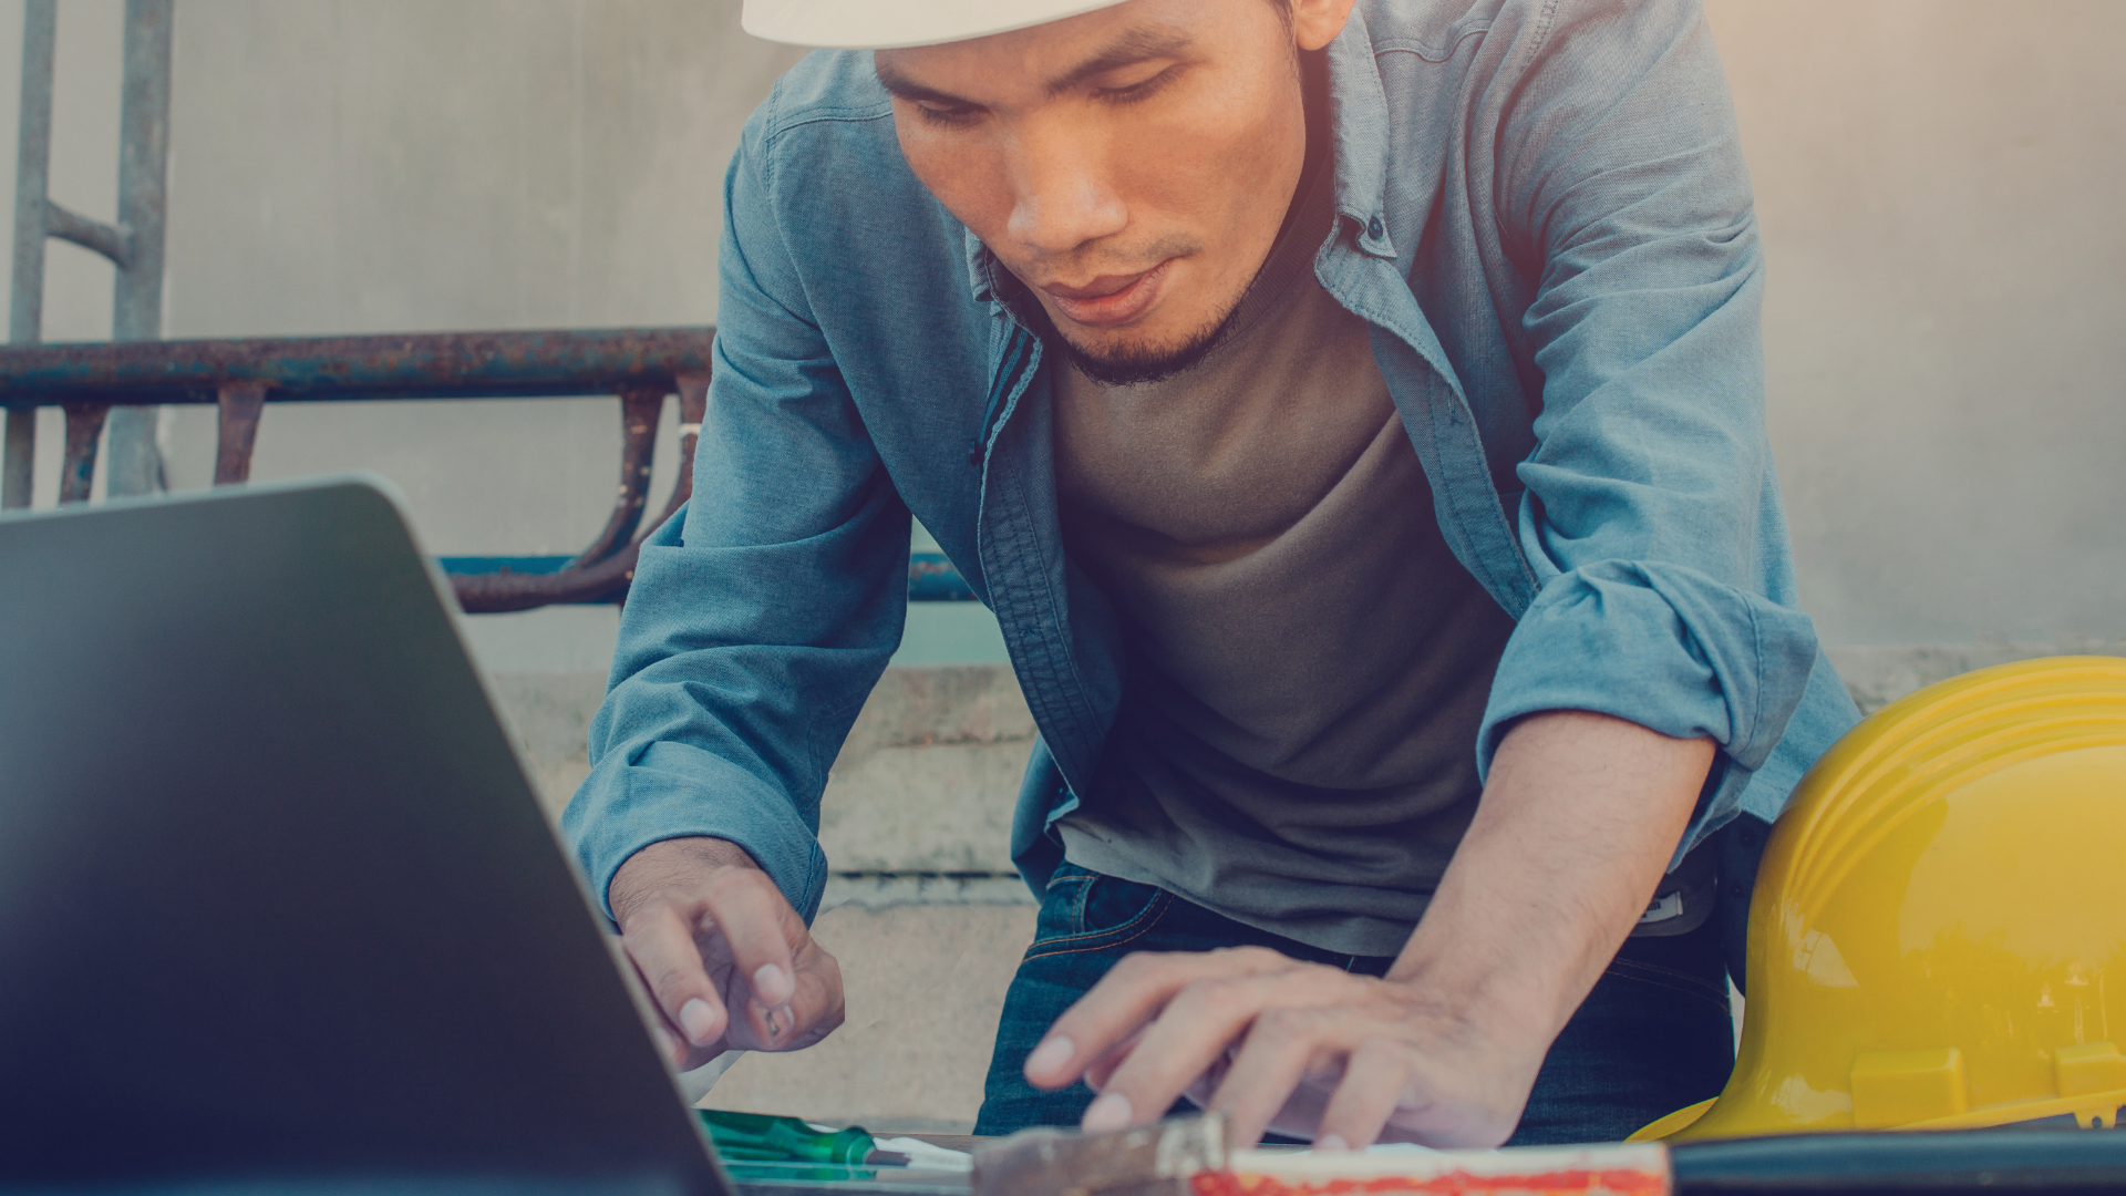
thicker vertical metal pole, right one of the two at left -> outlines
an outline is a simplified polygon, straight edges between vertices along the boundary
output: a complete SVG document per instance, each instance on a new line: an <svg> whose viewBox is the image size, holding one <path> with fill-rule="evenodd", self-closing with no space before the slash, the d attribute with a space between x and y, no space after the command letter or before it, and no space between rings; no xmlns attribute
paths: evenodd
<svg viewBox="0 0 2126 1196"><path fill-rule="evenodd" d="M119 226L132 258L119 270L111 306L113 340L162 338L162 230L170 166L170 0L125 0L125 102L119 111ZM106 489L164 489L155 445L159 406L111 411Z"/></svg>

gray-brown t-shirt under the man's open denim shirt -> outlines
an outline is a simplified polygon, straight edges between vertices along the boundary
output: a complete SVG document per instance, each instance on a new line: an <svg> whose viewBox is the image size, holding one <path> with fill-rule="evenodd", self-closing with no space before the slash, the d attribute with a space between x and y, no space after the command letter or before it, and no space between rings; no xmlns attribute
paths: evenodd
<svg viewBox="0 0 2126 1196"><path fill-rule="evenodd" d="M1188 370L1054 366L1063 543L1114 600L1123 704L1084 868L1393 956L1475 811L1514 621L1448 549L1367 323L1314 279L1327 170Z"/></svg>

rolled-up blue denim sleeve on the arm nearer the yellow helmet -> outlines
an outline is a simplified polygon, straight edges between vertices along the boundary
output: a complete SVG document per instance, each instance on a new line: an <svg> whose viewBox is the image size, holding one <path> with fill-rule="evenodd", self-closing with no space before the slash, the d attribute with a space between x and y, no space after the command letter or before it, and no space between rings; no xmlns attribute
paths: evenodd
<svg viewBox="0 0 2126 1196"><path fill-rule="evenodd" d="M1767 443L1750 177L1699 6L1563 0L1499 145L1516 147L1501 226L1539 272L1520 332L1543 402L1516 470L1535 598L1480 764L1514 719L1558 709L1711 738L1722 777L1688 849L1765 766L1820 658Z"/></svg>

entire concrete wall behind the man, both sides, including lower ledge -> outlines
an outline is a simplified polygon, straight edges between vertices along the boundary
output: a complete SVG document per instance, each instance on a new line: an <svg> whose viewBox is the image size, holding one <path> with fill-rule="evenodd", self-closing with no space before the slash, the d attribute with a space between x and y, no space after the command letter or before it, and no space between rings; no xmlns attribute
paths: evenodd
<svg viewBox="0 0 2126 1196"><path fill-rule="evenodd" d="M1865 704L2052 647L2126 651L2126 40L2115 0L1709 0L1758 187L1771 430L1801 587ZM53 192L115 206L119 0L60 6ZM793 53L736 0L179 0L170 336L714 321L725 157ZM0 211L19 0L0 0ZM49 338L108 334L51 249ZM568 551L617 413L270 409L261 479L376 468L440 553ZM174 413L204 485L210 417ZM670 445L670 432L665 436ZM55 479L47 423L43 502ZM661 492L670 447L659 458ZM480 617L549 798L583 775L610 609ZM904 664L1001 660L972 607ZM1029 724L999 670L891 675L836 768L819 932L850 1024L710 1100L965 1126L1018 945L1001 836ZM989 873L935 879L921 873Z"/></svg>

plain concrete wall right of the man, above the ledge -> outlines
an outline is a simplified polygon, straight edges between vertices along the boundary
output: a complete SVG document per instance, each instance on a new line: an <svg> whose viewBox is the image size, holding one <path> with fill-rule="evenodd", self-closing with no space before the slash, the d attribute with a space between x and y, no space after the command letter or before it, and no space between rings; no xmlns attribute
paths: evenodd
<svg viewBox="0 0 2126 1196"><path fill-rule="evenodd" d="M1835 645L2126 634L2113 0L1711 0L1771 430Z"/></svg>

